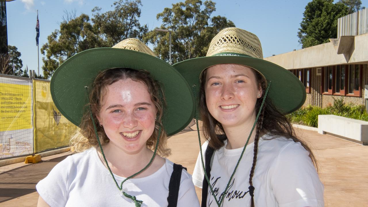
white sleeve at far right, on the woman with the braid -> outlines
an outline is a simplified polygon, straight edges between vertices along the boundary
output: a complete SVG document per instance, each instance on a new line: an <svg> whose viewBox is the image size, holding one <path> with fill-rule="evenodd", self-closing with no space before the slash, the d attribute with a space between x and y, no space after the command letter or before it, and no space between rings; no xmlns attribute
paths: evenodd
<svg viewBox="0 0 368 207"><path fill-rule="evenodd" d="M287 144L277 156L271 186L280 207L323 207L323 184L309 152L300 143Z"/></svg>

